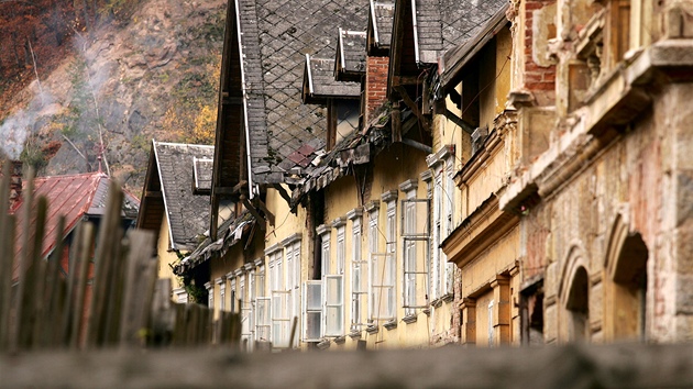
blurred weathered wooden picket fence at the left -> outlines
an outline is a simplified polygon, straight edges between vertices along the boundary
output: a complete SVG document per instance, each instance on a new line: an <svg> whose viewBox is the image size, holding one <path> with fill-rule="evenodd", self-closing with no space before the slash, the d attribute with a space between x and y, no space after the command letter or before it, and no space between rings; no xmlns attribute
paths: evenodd
<svg viewBox="0 0 693 389"><path fill-rule="evenodd" d="M15 225L8 212L9 165L0 182L0 352L238 344L238 314L226 313L212 322L206 307L170 302L170 282L157 282L157 259L151 255L154 235L138 230L125 235L121 227L123 192L116 184L109 188L98 236L91 223L77 226L69 270L63 276L65 221L56 229L57 246L43 258L47 200L33 198L30 173L19 211L28 222ZM16 229L22 229L23 242L15 258ZM14 267L19 277L13 276Z"/></svg>

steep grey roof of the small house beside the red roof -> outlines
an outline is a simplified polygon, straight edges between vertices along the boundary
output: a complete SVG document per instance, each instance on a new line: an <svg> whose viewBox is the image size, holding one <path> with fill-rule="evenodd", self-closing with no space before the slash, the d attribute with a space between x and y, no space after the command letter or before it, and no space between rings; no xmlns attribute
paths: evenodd
<svg viewBox="0 0 693 389"><path fill-rule="evenodd" d="M213 146L152 142L174 249L193 249L209 223L209 197L195 196L194 159L210 159ZM160 222L161 223L161 222Z"/></svg>

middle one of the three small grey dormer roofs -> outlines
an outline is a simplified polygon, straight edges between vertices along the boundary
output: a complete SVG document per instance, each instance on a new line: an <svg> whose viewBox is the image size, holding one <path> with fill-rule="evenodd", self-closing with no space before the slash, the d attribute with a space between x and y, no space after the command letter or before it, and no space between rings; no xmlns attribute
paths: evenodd
<svg viewBox="0 0 693 389"><path fill-rule="evenodd" d="M339 29L334 78L338 81L361 81L366 68L366 33Z"/></svg>

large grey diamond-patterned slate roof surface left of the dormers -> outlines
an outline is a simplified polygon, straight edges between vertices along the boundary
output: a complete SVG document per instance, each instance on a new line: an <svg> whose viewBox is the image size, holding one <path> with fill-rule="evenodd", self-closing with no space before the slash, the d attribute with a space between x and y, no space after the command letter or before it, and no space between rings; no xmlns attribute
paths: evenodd
<svg viewBox="0 0 693 389"><path fill-rule="evenodd" d="M278 182L282 160L324 137L324 109L301 104L305 55L332 57L337 26L365 26L367 0L237 0L252 181Z"/></svg>

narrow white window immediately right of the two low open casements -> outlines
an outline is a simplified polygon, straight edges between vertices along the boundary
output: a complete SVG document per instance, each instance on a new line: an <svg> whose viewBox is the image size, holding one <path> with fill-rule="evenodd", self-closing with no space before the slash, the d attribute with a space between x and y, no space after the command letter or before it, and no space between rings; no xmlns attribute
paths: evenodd
<svg viewBox="0 0 693 389"><path fill-rule="evenodd" d="M361 254L361 218L353 212L351 230L351 330L358 331L363 325L363 311L367 303L367 262Z"/></svg>

